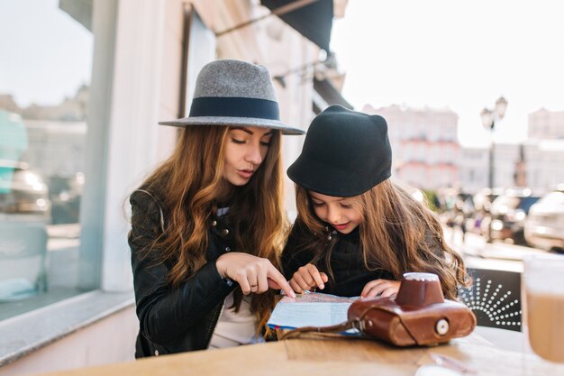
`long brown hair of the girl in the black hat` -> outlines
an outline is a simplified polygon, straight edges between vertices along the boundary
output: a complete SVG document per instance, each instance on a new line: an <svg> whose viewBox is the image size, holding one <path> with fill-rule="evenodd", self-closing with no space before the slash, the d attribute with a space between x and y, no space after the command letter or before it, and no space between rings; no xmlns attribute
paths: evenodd
<svg viewBox="0 0 564 376"><path fill-rule="evenodd" d="M387 179L348 201L362 215L361 257L368 270L390 271L396 280L409 271L435 273L450 299L457 298L459 285L468 285L464 261L444 242L439 220L405 188ZM329 261L336 237L327 236L327 224L315 216L308 190L298 185L296 206L297 221L319 234L304 239L300 250L312 252L314 260L323 260L332 278Z"/></svg>

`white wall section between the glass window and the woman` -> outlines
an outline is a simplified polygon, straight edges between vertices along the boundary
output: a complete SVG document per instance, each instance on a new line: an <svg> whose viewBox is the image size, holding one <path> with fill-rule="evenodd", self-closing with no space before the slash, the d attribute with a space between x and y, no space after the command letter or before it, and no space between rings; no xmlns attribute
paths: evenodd
<svg viewBox="0 0 564 376"><path fill-rule="evenodd" d="M166 92L177 93L177 85L162 86L165 71L177 70L176 77L179 75L179 69L174 69L179 66L177 60L168 59L170 55L179 57L172 53L179 45L166 42L166 11L165 0L119 2L105 186L101 287L107 291L132 289L127 244L130 226L122 215L123 201L141 178L168 156L175 140L174 129L158 125L164 106L161 97L171 98L173 103L165 105L172 111L177 108L177 98L173 101L174 96Z"/></svg>

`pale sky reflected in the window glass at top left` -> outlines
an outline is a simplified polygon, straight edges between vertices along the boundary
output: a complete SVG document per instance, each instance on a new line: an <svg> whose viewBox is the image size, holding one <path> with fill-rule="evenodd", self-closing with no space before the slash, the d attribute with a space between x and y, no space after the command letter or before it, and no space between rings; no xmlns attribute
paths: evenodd
<svg viewBox="0 0 564 376"><path fill-rule="evenodd" d="M90 83L94 38L59 0L0 0L0 94L57 105Z"/></svg>

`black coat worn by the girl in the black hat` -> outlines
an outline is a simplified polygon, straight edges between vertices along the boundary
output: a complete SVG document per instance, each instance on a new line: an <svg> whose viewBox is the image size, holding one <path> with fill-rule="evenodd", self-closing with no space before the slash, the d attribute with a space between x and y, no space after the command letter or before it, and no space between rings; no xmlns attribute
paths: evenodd
<svg viewBox="0 0 564 376"><path fill-rule="evenodd" d="M369 271L364 265L358 227L350 234L333 231L331 236L333 242L336 241L330 261L334 280L330 279L328 283L325 283L325 289L318 289L318 292L340 297L359 297L360 292L370 280L395 280L390 271L379 268ZM292 278L299 267L307 263L314 263L319 271L329 275L323 257L319 261L312 262L314 261L314 252L300 249L300 244L303 244L305 239L312 237L314 237L314 234L305 225L296 221L288 236L284 252L282 252L282 268L287 280Z"/></svg>

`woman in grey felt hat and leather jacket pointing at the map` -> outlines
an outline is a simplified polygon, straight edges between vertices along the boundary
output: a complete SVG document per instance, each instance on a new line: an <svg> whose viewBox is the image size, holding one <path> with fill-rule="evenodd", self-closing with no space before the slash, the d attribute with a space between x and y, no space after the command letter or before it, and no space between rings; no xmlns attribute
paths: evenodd
<svg viewBox="0 0 564 376"><path fill-rule="evenodd" d="M281 133L268 70L207 64L170 158L130 197L136 356L261 341L287 235Z"/></svg>

